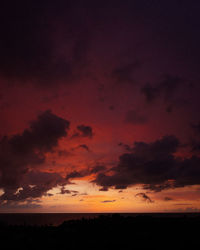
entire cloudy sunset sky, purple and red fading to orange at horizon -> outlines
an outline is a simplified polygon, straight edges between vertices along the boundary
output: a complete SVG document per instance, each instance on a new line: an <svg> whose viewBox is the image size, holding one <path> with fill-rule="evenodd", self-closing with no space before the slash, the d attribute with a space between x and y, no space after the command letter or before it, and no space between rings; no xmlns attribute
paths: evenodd
<svg viewBox="0 0 200 250"><path fill-rule="evenodd" d="M1 2L0 212L200 211L199 11Z"/></svg>

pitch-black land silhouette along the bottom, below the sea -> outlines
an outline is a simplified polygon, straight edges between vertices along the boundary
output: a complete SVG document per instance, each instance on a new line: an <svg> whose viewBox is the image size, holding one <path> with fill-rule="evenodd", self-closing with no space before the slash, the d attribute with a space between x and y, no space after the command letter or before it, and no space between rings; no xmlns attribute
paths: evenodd
<svg viewBox="0 0 200 250"><path fill-rule="evenodd" d="M0 224L1 249L200 249L200 216L65 221L60 226ZM3 248L2 248L3 246Z"/></svg>

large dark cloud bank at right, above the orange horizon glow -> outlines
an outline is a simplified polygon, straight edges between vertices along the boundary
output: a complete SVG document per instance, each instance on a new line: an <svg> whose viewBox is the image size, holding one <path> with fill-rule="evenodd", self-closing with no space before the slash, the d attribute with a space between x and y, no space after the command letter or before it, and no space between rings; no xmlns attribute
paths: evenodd
<svg viewBox="0 0 200 250"><path fill-rule="evenodd" d="M118 164L111 169L112 175L99 173L93 182L104 191L142 184L144 189L156 192L200 184L200 158L175 157L179 145L175 136L151 143L135 142L132 152L119 157Z"/></svg>

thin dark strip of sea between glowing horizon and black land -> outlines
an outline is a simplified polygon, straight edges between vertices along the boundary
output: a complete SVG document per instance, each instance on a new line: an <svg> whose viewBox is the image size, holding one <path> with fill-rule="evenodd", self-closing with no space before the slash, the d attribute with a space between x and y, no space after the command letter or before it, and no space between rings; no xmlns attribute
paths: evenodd
<svg viewBox="0 0 200 250"><path fill-rule="evenodd" d="M195 217L200 213L118 213L121 216L151 216L151 217ZM59 226L64 221L93 219L100 215L113 213L0 213L1 223L6 225Z"/></svg>

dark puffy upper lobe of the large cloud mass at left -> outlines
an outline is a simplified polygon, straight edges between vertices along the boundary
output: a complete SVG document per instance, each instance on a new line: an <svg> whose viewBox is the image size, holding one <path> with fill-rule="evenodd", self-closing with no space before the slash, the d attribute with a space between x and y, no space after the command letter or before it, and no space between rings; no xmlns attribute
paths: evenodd
<svg viewBox="0 0 200 250"><path fill-rule="evenodd" d="M57 146L60 138L67 136L69 124L69 121L47 110L38 116L38 120L30 123L30 129L10 138L9 144L20 154L34 150L48 152Z"/></svg>

